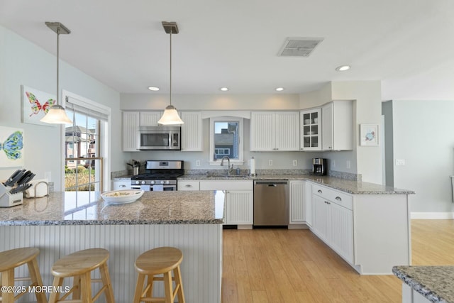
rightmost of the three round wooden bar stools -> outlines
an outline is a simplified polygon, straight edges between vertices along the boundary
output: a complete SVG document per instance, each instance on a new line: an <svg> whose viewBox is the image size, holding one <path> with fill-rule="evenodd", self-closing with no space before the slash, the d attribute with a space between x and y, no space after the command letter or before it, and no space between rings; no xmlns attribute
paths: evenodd
<svg viewBox="0 0 454 303"><path fill-rule="evenodd" d="M182 251L173 247L153 248L139 255L134 263L139 275L137 285L135 285L133 303L143 301L173 303L175 297L178 297L178 303L184 303L182 275L179 270L182 260ZM161 274L162 277L155 277L155 275ZM145 276L147 277L146 284ZM164 281L165 297L153 297L153 282L162 280ZM172 281L175 281L175 290L173 290Z"/></svg>

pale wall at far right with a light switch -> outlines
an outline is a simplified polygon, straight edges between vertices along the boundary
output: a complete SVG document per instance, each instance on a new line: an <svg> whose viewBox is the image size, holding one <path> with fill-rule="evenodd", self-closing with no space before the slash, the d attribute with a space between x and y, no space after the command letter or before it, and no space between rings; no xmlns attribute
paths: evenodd
<svg viewBox="0 0 454 303"><path fill-rule="evenodd" d="M453 114L454 101L392 101L394 187L416 192L410 199L412 213L452 216ZM396 166L396 159L405 160L405 165Z"/></svg>

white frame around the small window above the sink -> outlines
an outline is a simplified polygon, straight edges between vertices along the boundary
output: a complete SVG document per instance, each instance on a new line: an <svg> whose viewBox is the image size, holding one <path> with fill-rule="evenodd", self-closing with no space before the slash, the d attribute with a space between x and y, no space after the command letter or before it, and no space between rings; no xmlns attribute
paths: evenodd
<svg viewBox="0 0 454 303"><path fill-rule="evenodd" d="M214 123L216 122L238 122L238 159L231 159L231 164L243 165L244 164L244 119L233 116L216 116L210 117L210 137L209 137L209 163L210 165L221 165L220 160L214 158Z"/></svg>

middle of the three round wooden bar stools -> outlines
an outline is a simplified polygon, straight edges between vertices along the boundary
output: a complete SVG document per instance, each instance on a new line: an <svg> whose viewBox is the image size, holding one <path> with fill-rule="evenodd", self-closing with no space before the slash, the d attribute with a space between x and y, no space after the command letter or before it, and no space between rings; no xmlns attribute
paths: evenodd
<svg viewBox="0 0 454 303"><path fill-rule="evenodd" d="M106 295L107 303L114 303L114 292L112 291L111 278L107 268L107 259L109 259L109 250L104 248L89 248L79 250L70 255L60 258L52 265L52 275L54 275L54 289L64 290L63 279L65 277L74 277L73 286L69 292L65 292L60 297L60 292L51 292L49 303L65 302L65 299L72 294L70 302L92 303L101 296L103 292ZM99 268L101 279L92 279L91 273ZM101 290L92 297L92 282L102 282Z"/></svg>

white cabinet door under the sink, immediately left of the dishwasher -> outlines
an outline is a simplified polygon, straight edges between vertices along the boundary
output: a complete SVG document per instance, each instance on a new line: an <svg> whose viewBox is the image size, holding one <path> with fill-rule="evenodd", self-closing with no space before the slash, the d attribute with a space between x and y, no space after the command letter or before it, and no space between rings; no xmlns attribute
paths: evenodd
<svg viewBox="0 0 454 303"><path fill-rule="evenodd" d="M252 190L226 192L226 224L254 223L254 199Z"/></svg>

